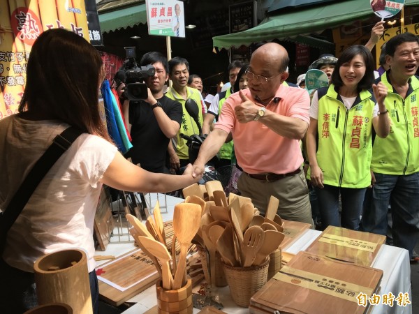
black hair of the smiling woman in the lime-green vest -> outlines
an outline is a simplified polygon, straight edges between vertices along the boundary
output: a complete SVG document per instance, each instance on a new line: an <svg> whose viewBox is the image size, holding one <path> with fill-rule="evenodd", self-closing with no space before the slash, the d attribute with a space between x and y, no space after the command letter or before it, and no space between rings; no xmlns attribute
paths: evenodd
<svg viewBox="0 0 419 314"><path fill-rule="evenodd" d="M354 45L344 50L339 59L337 59L335 70L333 71L332 79L330 80L330 82L335 85L337 90L339 90L339 88L344 85L344 82L342 82L339 74L339 68L343 63L351 61L353 57L358 54L360 54L362 59L364 59L365 63L365 75L358 83L358 93L364 89L371 89L372 83L374 82L374 58L372 57L372 53L367 49L367 47L363 45Z"/></svg>

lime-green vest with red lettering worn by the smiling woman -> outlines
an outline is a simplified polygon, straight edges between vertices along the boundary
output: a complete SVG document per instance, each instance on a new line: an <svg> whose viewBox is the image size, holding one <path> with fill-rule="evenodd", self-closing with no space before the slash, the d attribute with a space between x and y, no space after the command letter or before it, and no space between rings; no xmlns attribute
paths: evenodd
<svg viewBox="0 0 419 314"><path fill-rule="evenodd" d="M333 84L318 89L318 94L316 156L324 184L343 188L369 186L374 97L369 91L361 91L351 109L346 110Z"/></svg>

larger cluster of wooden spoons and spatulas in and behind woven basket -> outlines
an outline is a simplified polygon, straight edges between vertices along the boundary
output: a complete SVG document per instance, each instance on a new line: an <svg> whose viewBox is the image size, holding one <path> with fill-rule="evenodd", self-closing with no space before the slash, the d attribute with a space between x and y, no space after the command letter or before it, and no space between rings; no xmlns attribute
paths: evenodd
<svg viewBox="0 0 419 314"><path fill-rule="evenodd" d="M210 278L206 278L210 284L215 278L216 251L230 266L257 266L279 248L285 237L284 223L276 214L279 205L276 197L270 198L266 216L262 217L249 197L230 193L227 198L219 181L208 181L205 190L193 184L183 192L186 200L203 207L199 229L192 241L207 248L210 255Z"/></svg>

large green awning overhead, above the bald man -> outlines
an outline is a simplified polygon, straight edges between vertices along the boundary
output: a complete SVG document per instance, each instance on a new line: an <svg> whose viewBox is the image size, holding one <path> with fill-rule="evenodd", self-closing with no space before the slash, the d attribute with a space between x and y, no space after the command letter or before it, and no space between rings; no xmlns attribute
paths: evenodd
<svg viewBox="0 0 419 314"><path fill-rule="evenodd" d="M419 5L419 0L406 0L405 6ZM257 27L212 38L214 47L230 48L251 45L272 39L288 40L298 35L307 35L316 31L335 28L372 17L369 1L348 0L330 3L314 8L302 8L291 13L283 13L265 18Z"/></svg>

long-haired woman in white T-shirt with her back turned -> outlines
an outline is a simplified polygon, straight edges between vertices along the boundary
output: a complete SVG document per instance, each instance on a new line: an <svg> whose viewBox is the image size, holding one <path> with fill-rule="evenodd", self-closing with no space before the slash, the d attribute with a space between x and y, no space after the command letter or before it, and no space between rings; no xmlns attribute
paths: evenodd
<svg viewBox="0 0 419 314"><path fill-rule="evenodd" d="M56 135L69 126L83 133L47 172L8 231L0 258L0 313L23 313L37 306L34 262L75 247L87 253L97 313L93 225L102 184L167 192L198 181L191 165L182 176L154 174L117 151L98 111L104 77L96 49L71 31L45 31L31 49L19 113L0 120L1 211Z"/></svg>

